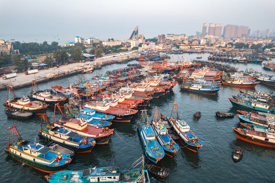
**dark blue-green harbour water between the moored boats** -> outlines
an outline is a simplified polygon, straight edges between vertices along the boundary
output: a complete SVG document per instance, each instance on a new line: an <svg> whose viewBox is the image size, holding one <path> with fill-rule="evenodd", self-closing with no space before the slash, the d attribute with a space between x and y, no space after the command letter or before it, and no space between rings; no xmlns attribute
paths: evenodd
<svg viewBox="0 0 275 183"><path fill-rule="evenodd" d="M207 59L208 54L182 54L173 55L174 59L184 56L185 59L194 59L202 56ZM133 61L132 63L135 63ZM68 79L78 80L80 77L90 78L95 74L101 74L110 69L126 67L127 64L114 64L105 66L93 74L76 75L69 78L62 78L47 83L39 83L40 89L50 88L52 85L68 86ZM256 64L232 64L240 70L247 67L258 71L273 74L262 69ZM15 89L17 96L27 96L31 87ZM269 90L267 86L258 84L256 89ZM179 84L174 87L174 92L169 95L154 99L148 109L149 119L154 114L155 107L159 107L161 113L170 116L173 103L178 104L179 114L190 125L192 131L203 140L204 145L198 153L181 148L174 158L165 157L159 166L171 170L166 180L151 179L152 182L274 182L273 172L275 171L275 151L271 148L253 145L236 139L232 127L239 123L235 116L231 119L216 118L216 111L229 110L236 112L228 98L238 92L236 87L223 86L217 96L204 96L194 93L181 92ZM275 91L275 90L273 90ZM2 103L6 100L6 91L1 91ZM196 120L193 114L201 111L202 116ZM23 139L37 141L37 132L40 129L40 118L34 117L29 120L20 121L7 119L5 108L1 106L0 116L2 117L2 128L0 130L0 164L2 182L46 182L46 173L35 170L20 162L13 160L4 153L8 144L8 127L17 125ZM47 116L53 120L53 110L48 110ZM87 167L103 167L120 165L121 168L128 167L143 153L141 141L137 131L138 116L135 116L129 124L114 123L112 128L119 137L114 134L108 145L97 145L91 154L76 154L69 170L80 170ZM121 139L123 139L123 141ZM231 153L234 146L241 146L245 149L241 162L234 163ZM145 159L147 162L147 159Z"/></svg>

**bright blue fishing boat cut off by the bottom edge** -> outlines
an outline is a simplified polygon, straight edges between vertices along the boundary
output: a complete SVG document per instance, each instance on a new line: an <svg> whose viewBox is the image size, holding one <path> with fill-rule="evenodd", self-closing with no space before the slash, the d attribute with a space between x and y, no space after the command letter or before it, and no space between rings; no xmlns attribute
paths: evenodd
<svg viewBox="0 0 275 183"><path fill-rule="evenodd" d="M147 170L143 168L142 157L135 161L130 169L121 170L119 166L109 166L101 168L88 168L85 170L72 171L64 170L46 175L45 178L50 183L67 182L115 182L115 183L149 183ZM140 166L141 165L141 166ZM138 167L140 166L140 168Z"/></svg>

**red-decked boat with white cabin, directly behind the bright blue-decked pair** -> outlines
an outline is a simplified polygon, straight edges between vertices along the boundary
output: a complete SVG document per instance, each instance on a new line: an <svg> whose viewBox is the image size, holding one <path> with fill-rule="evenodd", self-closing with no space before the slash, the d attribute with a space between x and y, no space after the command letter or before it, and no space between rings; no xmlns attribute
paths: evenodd
<svg viewBox="0 0 275 183"><path fill-rule="evenodd" d="M95 109L99 113L105 113L115 116L113 121L129 123L138 110L119 109L111 107L111 102L91 101L84 105L84 108Z"/></svg>

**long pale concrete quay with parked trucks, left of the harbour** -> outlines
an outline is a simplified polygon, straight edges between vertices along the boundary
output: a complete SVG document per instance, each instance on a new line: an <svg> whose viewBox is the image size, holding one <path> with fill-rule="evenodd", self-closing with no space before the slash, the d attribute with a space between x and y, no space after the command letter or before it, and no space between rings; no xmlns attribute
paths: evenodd
<svg viewBox="0 0 275 183"><path fill-rule="evenodd" d="M57 69L49 68L39 70L38 73L25 75L25 73L18 73L15 78L4 80L0 79L0 90L5 90L7 87L11 87L12 89L21 88L25 86L32 85L32 81L36 80L37 83L47 82L49 80L54 80L62 77L67 77L75 74L81 73L86 65L90 66L107 66L115 63L120 63L121 57L131 56L132 59L138 58L133 51L125 52L124 54L109 54L98 58L95 61L89 61L85 63L72 63L68 65L62 65ZM76 70L77 68L77 70ZM49 74L54 74L49 76ZM48 77L46 77L48 75Z"/></svg>

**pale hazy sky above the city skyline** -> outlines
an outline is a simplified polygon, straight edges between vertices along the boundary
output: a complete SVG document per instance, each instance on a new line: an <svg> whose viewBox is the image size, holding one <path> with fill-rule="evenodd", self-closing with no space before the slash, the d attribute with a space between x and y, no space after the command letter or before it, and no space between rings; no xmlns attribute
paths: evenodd
<svg viewBox="0 0 275 183"><path fill-rule="evenodd" d="M139 26L146 38L195 35L202 23L275 28L275 1L247 0L0 0L0 35L75 34L130 37ZM1 39L1 38L0 38Z"/></svg>

